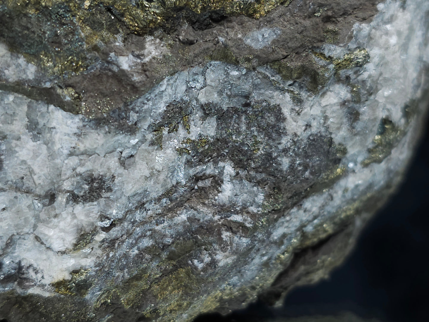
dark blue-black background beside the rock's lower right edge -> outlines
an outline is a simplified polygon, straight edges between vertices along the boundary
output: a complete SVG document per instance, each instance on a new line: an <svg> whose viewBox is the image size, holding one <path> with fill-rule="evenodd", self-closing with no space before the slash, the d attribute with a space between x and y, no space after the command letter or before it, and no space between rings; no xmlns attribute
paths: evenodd
<svg viewBox="0 0 429 322"><path fill-rule="evenodd" d="M256 303L226 317L209 314L195 322L262 322L342 311L384 322L429 321L428 128L399 191L368 223L329 280L293 290L281 309Z"/></svg>

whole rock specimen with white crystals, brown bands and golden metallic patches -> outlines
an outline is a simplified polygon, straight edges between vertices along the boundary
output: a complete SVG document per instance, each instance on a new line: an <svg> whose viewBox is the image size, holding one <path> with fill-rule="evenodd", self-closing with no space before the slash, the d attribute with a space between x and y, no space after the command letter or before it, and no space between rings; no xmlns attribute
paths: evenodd
<svg viewBox="0 0 429 322"><path fill-rule="evenodd" d="M0 319L191 321L323 278L424 122L426 0L0 1Z"/></svg>

